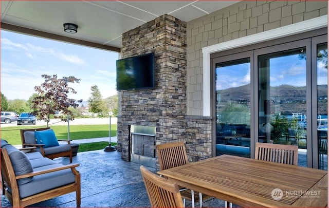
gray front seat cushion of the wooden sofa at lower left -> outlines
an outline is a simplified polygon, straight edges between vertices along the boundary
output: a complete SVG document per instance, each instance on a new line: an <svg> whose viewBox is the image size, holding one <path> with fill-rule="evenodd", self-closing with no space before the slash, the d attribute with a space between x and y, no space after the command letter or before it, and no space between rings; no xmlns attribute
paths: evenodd
<svg viewBox="0 0 329 208"><path fill-rule="evenodd" d="M48 159L50 160L50 159ZM61 167L61 164L46 165L43 167L34 168L34 171L41 171L43 169ZM69 183L75 182L75 176L71 172L71 169L64 169L62 171L42 174L34 176L33 180L29 183L19 185L20 196L28 197L34 194L38 194L52 188L60 187Z"/></svg>

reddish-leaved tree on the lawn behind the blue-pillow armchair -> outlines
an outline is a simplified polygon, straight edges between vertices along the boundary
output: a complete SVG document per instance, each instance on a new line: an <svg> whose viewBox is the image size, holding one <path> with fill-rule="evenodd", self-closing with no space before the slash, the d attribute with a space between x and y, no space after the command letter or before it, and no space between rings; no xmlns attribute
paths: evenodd
<svg viewBox="0 0 329 208"><path fill-rule="evenodd" d="M69 87L69 83L79 83L80 79L75 77L63 77L57 78L57 74L50 75L43 74L42 78L45 82L41 86L35 86L34 90L38 93L38 96L32 98L33 114L38 116L38 120L44 120L48 123L50 116L54 115L56 111L62 112L63 115L68 115L70 120L74 118L72 111L69 107L78 107L82 100L69 99L67 94L77 91ZM63 119L64 120L64 119Z"/></svg>

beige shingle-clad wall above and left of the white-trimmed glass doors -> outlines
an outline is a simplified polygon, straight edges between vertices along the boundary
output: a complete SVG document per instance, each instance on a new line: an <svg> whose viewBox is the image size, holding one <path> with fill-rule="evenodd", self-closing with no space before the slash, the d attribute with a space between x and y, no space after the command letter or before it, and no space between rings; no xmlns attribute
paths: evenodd
<svg viewBox="0 0 329 208"><path fill-rule="evenodd" d="M187 115L203 115L203 47L326 15L327 3L241 1L188 22Z"/></svg>

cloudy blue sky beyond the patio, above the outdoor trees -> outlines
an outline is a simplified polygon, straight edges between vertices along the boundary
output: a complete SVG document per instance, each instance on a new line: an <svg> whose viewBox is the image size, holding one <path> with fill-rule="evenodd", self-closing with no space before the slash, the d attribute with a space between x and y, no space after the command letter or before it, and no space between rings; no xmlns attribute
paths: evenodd
<svg viewBox="0 0 329 208"><path fill-rule="evenodd" d="M103 98L116 91L117 52L83 47L1 30L1 91L9 100L28 100L34 86L44 82L42 74L58 78L74 76L70 84L78 93L69 98L88 100L97 85Z"/></svg>

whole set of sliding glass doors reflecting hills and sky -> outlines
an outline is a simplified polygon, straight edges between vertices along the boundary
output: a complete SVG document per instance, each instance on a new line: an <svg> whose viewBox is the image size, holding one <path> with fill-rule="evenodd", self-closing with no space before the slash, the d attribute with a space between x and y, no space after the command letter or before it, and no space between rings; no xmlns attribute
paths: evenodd
<svg viewBox="0 0 329 208"><path fill-rule="evenodd" d="M216 156L253 158L256 142L298 145L299 166L327 169L327 35L322 34L211 57Z"/></svg>

